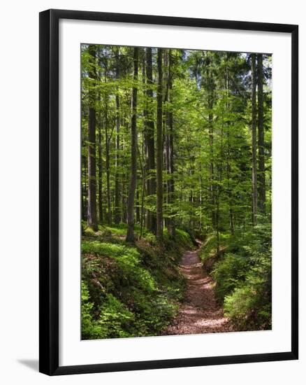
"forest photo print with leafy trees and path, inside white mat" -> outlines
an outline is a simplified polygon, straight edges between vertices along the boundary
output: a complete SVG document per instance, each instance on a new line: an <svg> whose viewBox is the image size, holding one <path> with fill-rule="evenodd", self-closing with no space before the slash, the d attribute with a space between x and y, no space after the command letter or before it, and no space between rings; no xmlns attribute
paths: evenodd
<svg viewBox="0 0 306 385"><path fill-rule="evenodd" d="M80 45L81 339L272 329L272 55Z"/></svg>

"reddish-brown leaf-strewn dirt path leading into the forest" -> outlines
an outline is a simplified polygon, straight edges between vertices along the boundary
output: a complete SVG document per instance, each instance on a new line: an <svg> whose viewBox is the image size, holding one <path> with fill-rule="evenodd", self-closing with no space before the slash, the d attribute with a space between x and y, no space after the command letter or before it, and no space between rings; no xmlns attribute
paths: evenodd
<svg viewBox="0 0 306 385"><path fill-rule="evenodd" d="M233 331L214 297L214 281L203 270L198 250L187 251L180 270L187 278L187 291L179 313L166 335Z"/></svg>

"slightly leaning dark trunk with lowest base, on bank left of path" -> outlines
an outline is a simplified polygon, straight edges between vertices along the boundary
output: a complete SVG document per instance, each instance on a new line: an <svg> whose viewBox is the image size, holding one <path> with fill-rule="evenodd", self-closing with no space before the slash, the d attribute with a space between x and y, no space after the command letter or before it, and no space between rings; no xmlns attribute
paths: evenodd
<svg viewBox="0 0 306 385"><path fill-rule="evenodd" d="M135 206L135 190L137 181L137 80L138 80L138 48L134 48L133 52L133 90L131 101L131 183L129 188L127 222L128 230L126 241L135 241L134 235L134 206Z"/></svg>

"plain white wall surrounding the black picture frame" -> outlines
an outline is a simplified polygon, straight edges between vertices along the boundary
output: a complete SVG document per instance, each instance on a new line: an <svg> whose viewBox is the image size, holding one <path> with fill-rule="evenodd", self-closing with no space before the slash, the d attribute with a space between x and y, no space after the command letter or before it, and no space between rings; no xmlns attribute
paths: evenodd
<svg viewBox="0 0 306 385"><path fill-rule="evenodd" d="M300 25L300 106L306 62L306 21L303 1L256 0L117 0L110 2L10 0L1 6L0 22L0 380L3 384L304 384L306 332L300 328L300 360L143 372L47 377L38 373L38 12L48 8L188 16ZM306 162L306 120L300 107L300 169ZM306 179L300 172L300 196ZM305 200L300 202L303 218ZM306 231L300 221L300 238ZM305 274L303 244L300 276ZM300 325L306 321L306 281L300 280Z"/></svg>

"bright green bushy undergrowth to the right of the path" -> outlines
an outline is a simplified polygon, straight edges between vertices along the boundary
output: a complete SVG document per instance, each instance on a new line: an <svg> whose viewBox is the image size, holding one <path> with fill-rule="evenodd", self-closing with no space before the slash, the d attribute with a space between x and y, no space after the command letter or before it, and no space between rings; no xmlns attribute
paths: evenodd
<svg viewBox="0 0 306 385"><path fill-rule="evenodd" d="M238 330L271 328L270 223L228 237L224 245L225 253L214 260L212 270L224 314Z"/></svg>

